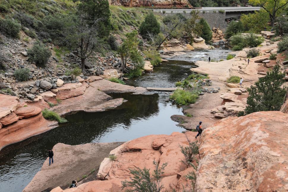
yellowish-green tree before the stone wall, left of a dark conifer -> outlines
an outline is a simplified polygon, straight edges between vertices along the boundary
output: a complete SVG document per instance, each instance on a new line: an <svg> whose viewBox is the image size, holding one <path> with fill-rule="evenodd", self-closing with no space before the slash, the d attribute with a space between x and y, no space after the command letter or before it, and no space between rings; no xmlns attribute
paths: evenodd
<svg viewBox="0 0 288 192"><path fill-rule="evenodd" d="M197 23L200 18L197 11L190 12L191 17L185 21L184 31L189 36L190 41L193 42L194 37L199 37L202 34L203 26Z"/></svg>

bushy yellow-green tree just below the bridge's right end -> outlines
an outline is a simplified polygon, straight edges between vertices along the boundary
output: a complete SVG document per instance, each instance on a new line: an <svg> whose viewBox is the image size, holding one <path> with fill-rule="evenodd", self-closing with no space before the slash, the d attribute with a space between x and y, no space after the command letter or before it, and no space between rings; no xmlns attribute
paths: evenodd
<svg viewBox="0 0 288 192"><path fill-rule="evenodd" d="M269 14L261 9L248 15L242 14L241 21L246 31L260 33L264 28L268 28Z"/></svg>

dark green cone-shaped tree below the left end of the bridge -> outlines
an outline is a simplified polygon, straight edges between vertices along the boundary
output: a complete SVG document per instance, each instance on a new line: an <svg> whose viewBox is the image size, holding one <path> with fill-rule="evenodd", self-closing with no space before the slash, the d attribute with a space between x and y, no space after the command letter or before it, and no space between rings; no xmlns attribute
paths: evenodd
<svg viewBox="0 0 288 192"><path fill-rule="evenodd" d="M145 38L148 33L154 35L160 33L160 24L152 12L146 15L144 21L140 25L139 31Z"/></svg>

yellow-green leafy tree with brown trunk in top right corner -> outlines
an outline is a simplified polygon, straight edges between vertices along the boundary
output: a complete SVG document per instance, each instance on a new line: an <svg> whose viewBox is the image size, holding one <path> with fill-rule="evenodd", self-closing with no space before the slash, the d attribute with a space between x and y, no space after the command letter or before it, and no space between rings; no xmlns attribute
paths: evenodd
<svg viewBox="0 0 288 192"><path fill-rule="evenodd" d="M288 0L249 0L248 2L251 5L262 7L269 13L271 27L274 27L275 19L288 4Z"/></svg>

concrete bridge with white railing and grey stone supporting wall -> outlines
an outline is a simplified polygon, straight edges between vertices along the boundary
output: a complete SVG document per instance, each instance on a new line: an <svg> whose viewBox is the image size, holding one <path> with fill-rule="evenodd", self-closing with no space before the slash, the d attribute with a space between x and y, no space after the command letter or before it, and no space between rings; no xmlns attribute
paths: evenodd
<svg viewBox="0 0 288 192"><path fill-rule="evenodd" d="M190 12L198 11L200 17L204 18L211 28L216 27L222 30L226 29L226 19L239 17L242 14L253 13L259 11L261 7L194 7L194 8L178 8L178 9L153 9L154 14L168 15L181 13L189 17Z"/></svg>

